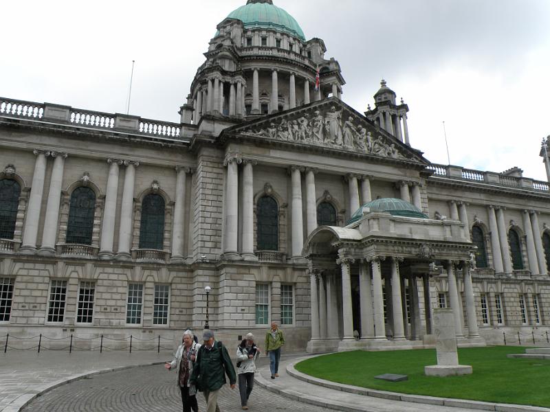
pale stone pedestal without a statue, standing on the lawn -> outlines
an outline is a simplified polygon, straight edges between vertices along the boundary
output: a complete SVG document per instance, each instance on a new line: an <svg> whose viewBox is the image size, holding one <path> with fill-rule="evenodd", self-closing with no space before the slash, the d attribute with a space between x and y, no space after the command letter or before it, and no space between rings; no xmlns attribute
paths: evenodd
<svg viewBox="0 0 550 412"><path fill-rule="evenodd" d="M437 365L424 367L428 376L467 375L472 373L472 367L459 365L459 355L456 352L456 332L454 330L454 315L451 308L434 309L434 335L436 337Z"/></svg>

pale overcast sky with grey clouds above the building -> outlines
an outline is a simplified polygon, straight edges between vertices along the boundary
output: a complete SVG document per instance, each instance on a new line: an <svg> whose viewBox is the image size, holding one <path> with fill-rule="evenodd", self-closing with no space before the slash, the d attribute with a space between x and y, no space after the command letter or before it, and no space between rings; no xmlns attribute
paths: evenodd
<svg viewBox="0 0 550 412"><path fill-rule="evenodd" d="M177 122L217 23L245 0L9 1L0 95ZM274 0L320 37L360 112L381 78L410 108L411 144L435 163L545 180L550 1Z"/></svg>

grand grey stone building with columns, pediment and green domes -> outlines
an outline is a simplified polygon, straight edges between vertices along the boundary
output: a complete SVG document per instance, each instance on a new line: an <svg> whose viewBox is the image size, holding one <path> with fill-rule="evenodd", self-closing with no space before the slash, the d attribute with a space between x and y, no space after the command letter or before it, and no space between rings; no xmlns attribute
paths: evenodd
<svg viewBox="0 0 550 412"><path fill-rule="evenodd" d="M179 123L0 100L0 334L423 347L436 307L463 345L547 332L547 182L430 163L271 0L217 29Z"/></svg>

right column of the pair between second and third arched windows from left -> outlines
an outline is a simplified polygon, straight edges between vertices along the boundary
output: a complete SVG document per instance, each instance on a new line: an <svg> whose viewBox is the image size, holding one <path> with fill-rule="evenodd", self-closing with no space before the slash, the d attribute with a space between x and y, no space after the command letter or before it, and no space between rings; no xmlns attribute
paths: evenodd
<svg viewBox="0 0 550 412"><path fill-rule="evenodd" d="M124 161L126 172L124 173L124 188L122 190L122 205L120 207L120 227L118 230L119 260L131 260L130 248L132 244L132 217L133 217L133 191L135 183L135 168L140 165L137 161Z"/></svg>

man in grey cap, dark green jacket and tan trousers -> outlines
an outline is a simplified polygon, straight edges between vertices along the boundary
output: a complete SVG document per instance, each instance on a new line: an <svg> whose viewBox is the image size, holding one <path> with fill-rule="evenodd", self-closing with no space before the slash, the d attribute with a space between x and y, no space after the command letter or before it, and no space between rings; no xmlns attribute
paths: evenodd
<svg viewBox="0 0 550 412"><path fill-rule="evenodd" d="M190 382L204 393L206 412L215 412L219 411L218 393L225 385L225 375L229 378L231 389L234 389L236 374L228 350L221 342L214 340L214 333L207 329L203 332L202 339L204 343L197 353Z"/></svg>

